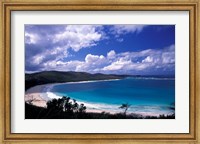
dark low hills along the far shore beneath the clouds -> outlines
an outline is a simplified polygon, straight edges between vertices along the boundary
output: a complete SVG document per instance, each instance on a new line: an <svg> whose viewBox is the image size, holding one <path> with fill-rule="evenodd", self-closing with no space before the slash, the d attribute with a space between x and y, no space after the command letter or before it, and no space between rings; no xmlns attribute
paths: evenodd
<svg viewBox="0 0 200 144"><path fill-rule="evenodd" d="M106 75L101 73L90 74L86 72L43 71L33 74L25 74L25 90L36 85L48 84L48 83L122 79L125 77L127 77L127 75L114 75L114 74Z"/></svg>

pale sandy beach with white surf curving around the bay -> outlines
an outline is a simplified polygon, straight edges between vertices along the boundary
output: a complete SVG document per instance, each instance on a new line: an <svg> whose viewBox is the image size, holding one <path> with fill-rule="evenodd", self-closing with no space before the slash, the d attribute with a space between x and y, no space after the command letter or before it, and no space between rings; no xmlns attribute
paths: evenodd
<svg viewBox="0 0 200 144"><path fill-rule="evenodd" d="M52 87L56 85L64 85L64 84L75 84L75 83L88 83L88 82L101 82L101 81L115 81L119 79L111 79L111 80L95 80L95 81L80 81L80 82L66 82L66 83L52 83L52 84L45 84L45 85L37 85L34 87L29 88L25 92L25 102L30 103L32 105L38 106L38 107L47 107L47 101L53 99L53 98L62 98L62 96L58 96L50 90ZM78 101L78 104L83 103L87 109L86 112L88 113L110 113L110 114L116 114L116 113L123 113L123 110L119 109L120 105L114 105L114 107L106 107L105 105L101 104L93 104L93 103L88 103L88 102L83 102L83 101ZM137 111L127 111L127 114L138 114L141 116L159 116L160 114L167 115L169 113L156 113L156 112L137 112Z"/></svg>

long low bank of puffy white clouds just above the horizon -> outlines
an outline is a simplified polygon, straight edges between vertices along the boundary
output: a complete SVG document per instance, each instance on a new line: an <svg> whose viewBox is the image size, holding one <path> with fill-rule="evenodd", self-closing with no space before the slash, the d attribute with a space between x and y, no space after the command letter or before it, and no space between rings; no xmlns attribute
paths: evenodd
<svg viewBox="0 0 200 144"><path fill-rule="evenodd" d="M87 54L84 61L54 61L46 64L47 69L84 71L89 73L135 74L148 70L173 70L175 68L174 45L163 49L148 49L139 52L116 53L107 56Z"/></svg>

